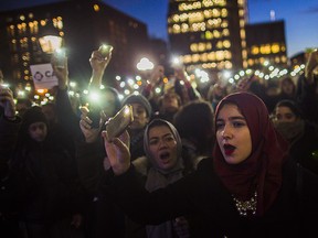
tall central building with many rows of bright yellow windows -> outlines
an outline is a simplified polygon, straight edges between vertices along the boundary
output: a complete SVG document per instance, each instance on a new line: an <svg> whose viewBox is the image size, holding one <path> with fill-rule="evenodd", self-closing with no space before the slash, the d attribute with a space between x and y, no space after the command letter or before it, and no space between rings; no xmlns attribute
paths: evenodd
<svg viewBox="0 0 318 238"><path fill-rule="evenodd" d="M171 53L188 71L247 67L246 0L170 0Z"/></svg>

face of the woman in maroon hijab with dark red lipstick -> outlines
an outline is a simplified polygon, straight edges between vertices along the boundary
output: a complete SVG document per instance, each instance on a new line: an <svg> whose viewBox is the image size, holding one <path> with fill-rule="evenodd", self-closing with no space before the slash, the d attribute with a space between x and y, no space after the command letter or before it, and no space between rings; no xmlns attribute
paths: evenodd
<svg viewBox="0 0 318 238"><path fill-rule="evenodd" d="M226 104L216 118L216 140L229 164L239 164L252 152L252 138L247 122L236 105Z"/></svg>

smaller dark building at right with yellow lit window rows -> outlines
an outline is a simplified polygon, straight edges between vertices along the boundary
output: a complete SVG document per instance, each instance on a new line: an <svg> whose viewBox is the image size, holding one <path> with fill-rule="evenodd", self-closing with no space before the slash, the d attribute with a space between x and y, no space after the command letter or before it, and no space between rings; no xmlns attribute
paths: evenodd
<svg viewBox="0 0 318 238"><path fill-rule="evenodd" d="M287 65L287 50L284 21L246 25L247 64L257 68L268 62L273 65Z"/></svg>

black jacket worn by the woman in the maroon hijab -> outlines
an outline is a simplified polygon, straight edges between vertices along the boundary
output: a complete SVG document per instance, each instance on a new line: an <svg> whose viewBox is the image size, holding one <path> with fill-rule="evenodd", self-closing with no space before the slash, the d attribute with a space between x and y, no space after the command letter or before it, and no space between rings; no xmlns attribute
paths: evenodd
<svg viewBox="0 0 318 238"><path fill-rule="evenodd" d="M192 237L304 237L305 232L317 234L316 219L311 217L318 214L318 180L289 161L284 166L282 190L276 201L263 217L252 219L239 215L211 159L202 160L197 172L152 193L145 191L134 170L131 166L127 173L114 176L112 182L105 181L102 188L108 193L112 190L118 205L138 223L160 224L188 215L197 220Z"/></svg>

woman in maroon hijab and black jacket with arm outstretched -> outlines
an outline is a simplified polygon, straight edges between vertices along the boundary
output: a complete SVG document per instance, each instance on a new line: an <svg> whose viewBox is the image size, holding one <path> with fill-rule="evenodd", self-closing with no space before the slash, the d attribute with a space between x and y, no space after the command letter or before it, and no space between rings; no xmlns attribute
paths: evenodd
<svg viewBox="0 0 318 238"><path fill-rule="evenodd" d="M195 127L195 125L193 125ZM250 93L223 98L215 110L218 144L198 170L151 193L138 183L123 133L105 148L113 178L104 183L130 218L158 224L193 217L191 237L304 237L315 232L318 178L288 159L264 102Z"/></svg>

